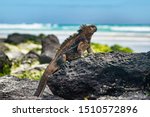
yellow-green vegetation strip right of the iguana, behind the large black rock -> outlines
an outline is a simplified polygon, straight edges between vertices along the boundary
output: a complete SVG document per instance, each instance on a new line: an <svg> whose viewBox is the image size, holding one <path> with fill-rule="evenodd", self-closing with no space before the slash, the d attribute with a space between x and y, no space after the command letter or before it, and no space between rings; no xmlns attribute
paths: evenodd
<svg viewBox="0 0 150 117"><path fill-rule="evenodd" d="M133 50L128 47L122 47L118 44L113 46L102 45L98 43L91 44L93 51L96 52L124 52L124 53L133 53Z"/></svg>

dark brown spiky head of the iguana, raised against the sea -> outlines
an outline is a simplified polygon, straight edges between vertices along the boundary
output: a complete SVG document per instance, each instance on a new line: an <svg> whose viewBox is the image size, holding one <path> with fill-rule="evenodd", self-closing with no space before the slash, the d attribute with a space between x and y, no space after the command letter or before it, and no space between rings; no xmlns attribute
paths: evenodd
<svg viewBox="0 0 150 117"><path fill-rule="evenodd" d="M79 33L84 33L87 35L93 35L93 33L96 31L97 27L95 25L82 25L78 30Z"/></svg>

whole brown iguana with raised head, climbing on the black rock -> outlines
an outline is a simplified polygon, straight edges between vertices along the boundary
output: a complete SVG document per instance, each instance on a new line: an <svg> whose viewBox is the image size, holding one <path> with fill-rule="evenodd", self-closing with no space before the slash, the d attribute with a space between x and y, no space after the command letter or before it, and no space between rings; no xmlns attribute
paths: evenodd
<svg viewBox="0 0 150 117"><path fill-rule="evenodd" d="M90 41L92 35L96 31L97 28L95 25L82 25L78 30L78 33L70 36L62 43L54 59L47 66L34 94L35 96L42 95L47 84L48 77L60 69L66 61L72 61L82 57L85 50L87 50L88 53L92 53Z"/></svg>

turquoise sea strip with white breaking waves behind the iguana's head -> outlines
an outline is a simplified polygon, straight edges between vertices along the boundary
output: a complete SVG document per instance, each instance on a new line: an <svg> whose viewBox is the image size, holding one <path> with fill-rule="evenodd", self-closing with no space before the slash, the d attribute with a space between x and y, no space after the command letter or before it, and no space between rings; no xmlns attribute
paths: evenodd
<svg viewBox="0 0 150 117"><path fill-rule="evenodd" d="M96 25L101 32L139 32L150 33L150 25ZM78 24L0 24L0 30L54 30L54 31L75 31Z"/></svg>

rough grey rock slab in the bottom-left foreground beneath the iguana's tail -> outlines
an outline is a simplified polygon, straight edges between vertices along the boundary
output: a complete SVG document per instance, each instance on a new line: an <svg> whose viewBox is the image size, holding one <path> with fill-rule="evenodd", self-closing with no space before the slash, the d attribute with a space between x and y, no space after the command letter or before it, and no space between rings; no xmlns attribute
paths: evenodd
<svg viewBox="0 0 150 117"><path fill-rule="evenodd" d="M14 76L0 77L0 100L57 100L62 99L49 94L46 88L43 97L33 96L38 85L38 81L30 79L19 79Z"/></svg>

